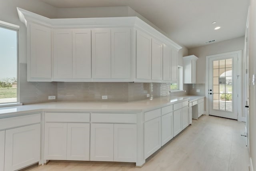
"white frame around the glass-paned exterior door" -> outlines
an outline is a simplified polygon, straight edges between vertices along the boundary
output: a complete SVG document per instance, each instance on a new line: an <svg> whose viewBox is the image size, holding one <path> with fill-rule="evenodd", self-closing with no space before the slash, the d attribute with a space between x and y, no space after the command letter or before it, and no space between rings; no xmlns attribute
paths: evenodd
<svg viewBox="0 0 256 171"><path fill-rule="evenodd" d="M233 55L233 54L237 54L237 56L238 56L238 67L237 67L237 70L238 70L237 71L237 73L238 73L238 80L237 80L237 82L238 82L238 85L237 85L237 89L238 89L238 99L237 99L238 116L237 116L237 119L238 119L238 121L242 121L242 108L241 108L241 104L242 104L242 96L241 96L242 95L241 94L241 87L242 87L242 85L241 85L242 50L206 56L206 84L205 84L206 115L209 115L209 94L208 94L208 88L209 88L209 59L214 58L214 57L219 57L219 56Z"/></svg>

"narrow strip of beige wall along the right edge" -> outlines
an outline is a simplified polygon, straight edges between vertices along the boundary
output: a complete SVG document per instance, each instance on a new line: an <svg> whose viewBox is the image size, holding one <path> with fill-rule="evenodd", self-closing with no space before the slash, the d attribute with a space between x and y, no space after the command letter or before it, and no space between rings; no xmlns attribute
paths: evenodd
<svg viewBox="0 0 256 171"><path fill-rule="evenodd" d="M256 1L250 0L249 77L256 74ZM249 87L249 139L250 157L256 170L256 85ZM252 168L250 169L252 170Z"/></svg>

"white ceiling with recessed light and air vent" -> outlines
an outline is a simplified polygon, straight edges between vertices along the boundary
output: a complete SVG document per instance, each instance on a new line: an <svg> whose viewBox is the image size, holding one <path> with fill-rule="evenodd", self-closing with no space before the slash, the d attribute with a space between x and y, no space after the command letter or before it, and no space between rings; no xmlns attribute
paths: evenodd
<svg viewBox="0 0 256 171"><path fill-rule="evenodd" d="M249 0L41 0L57 8L130 6L188 49L244 36ZM212 24L216 21L216 24ZM219 30L214 30L221 26Z"/></svg>

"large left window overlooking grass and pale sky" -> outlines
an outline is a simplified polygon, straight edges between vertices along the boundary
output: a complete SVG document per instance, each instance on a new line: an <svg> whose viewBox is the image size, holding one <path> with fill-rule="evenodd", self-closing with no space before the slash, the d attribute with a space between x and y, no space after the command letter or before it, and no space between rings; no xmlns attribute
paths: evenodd
<svg viewBox="0 0 256 171"><path fill-rule="evenodd" d="M0 21L0 104L16 103L18 26Z"/></svg>

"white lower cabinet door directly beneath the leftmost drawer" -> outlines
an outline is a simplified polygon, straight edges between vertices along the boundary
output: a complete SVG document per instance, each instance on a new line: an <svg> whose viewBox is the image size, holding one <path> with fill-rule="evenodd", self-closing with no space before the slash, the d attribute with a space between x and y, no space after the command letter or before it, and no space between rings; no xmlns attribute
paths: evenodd
<svg viewBox="0 0 256 171"><path fill-rule="evenodd" d="M4 170L13 171L40 160L41 125L6 130Z"/></svg>

